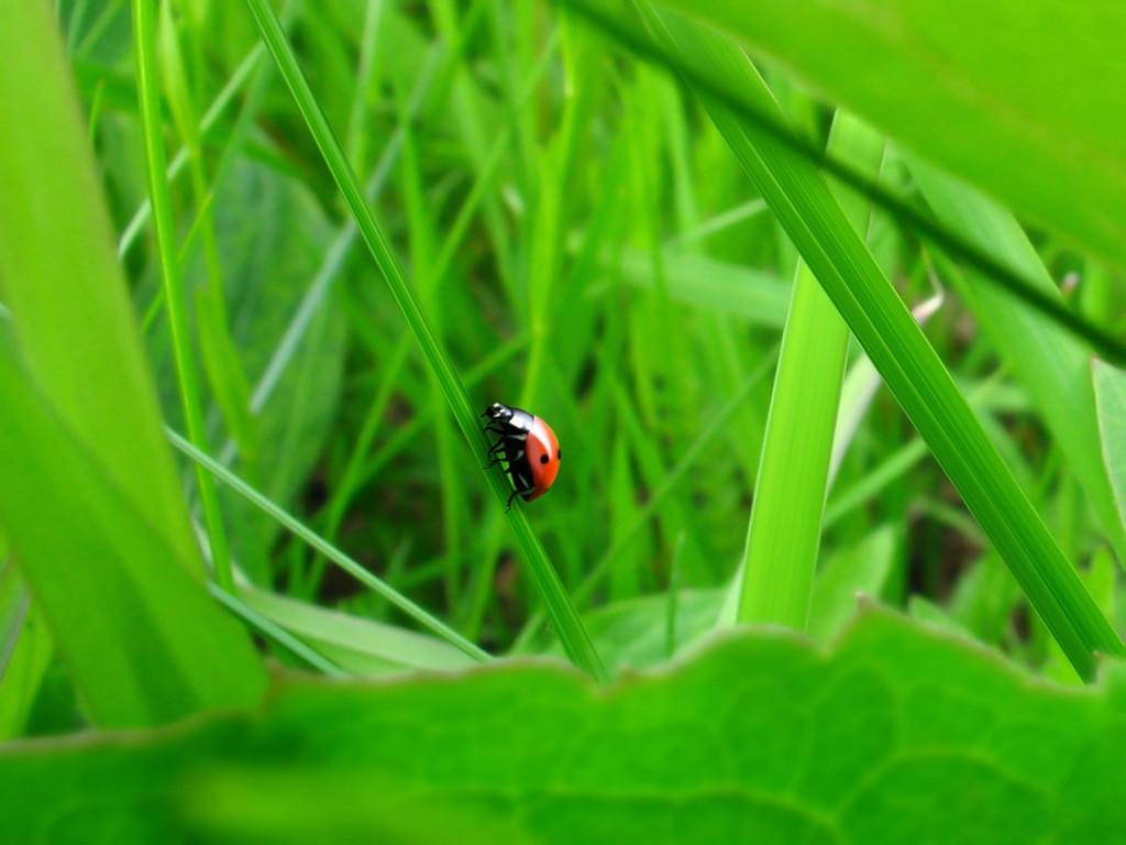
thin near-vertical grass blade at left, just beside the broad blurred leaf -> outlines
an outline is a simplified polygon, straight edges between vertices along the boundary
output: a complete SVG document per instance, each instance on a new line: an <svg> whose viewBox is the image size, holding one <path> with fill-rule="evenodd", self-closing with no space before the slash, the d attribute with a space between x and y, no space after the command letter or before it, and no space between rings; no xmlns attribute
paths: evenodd
<svg viewBox="0 0 1126 845"><path fill-rule="evenodd" d="M180 404L193 444L207 450L203 412L199 404L199 383L195 355L188 329L187 294L177 259L176 225L172 221L172 202L166 177L164 141L161 135L160 92L157 80L155 19L153 0L133 0L133 34L137 61L137 99L141 103L141 119L144 128L145 158L149 163L149 197L157 228L157 247L160 251L161 276L164 285L164 308L172 336L172 352L180 390ZM231 577L231 553L226 542L226 530L220 513L215 483L203 470L196 471L199 499L207 525L212 564L218 585L226 590L234 586Z"/></svg>

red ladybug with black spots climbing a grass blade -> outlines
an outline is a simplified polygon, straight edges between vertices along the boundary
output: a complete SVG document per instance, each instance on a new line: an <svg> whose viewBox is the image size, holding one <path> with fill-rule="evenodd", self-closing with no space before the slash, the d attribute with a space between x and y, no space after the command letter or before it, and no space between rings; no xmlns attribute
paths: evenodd
<svg viewBox="0 0 1126 845"><path fill-rule="evenodd" d="M517 496L525 501L538 499L555 483L560 471L560 443L555 432L539 417L519 408L510 408L493 402L482 417L488 417L485 430L497 435L490 447L492 459L485 469L504 462L504 471L512 479L512 495L508 497L508 508Z"/></svg>

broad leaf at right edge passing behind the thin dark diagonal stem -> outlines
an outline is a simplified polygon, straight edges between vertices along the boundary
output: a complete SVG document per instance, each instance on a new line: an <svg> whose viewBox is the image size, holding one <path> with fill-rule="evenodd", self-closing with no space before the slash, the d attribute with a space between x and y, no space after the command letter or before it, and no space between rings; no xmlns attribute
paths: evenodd
<svg viewBox="0 0 1126 845"><path fill-rule="evenodd" d="M1009 212L921 162L911 171L938 220L990 250L1062 301L1036 249ZM1082 483L1107 537L1126 561L1126 530L1115 509L1099 448L1090 353L1058 323L999 291L977 273L955 279L978 323L1004 356Z"/></svg>

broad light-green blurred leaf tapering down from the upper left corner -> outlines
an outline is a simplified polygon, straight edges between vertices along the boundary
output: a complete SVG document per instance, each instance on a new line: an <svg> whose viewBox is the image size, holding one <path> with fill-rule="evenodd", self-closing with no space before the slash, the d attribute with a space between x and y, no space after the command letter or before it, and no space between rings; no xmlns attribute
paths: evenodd
<svg viewBox="0 0 1126 845"><path fill-rule="evenodd" d="M55 412L175 552L169 562L202 579L46 5L0 6L0 113L20 116L0 132L0 297L20 355Z"/></svg>

